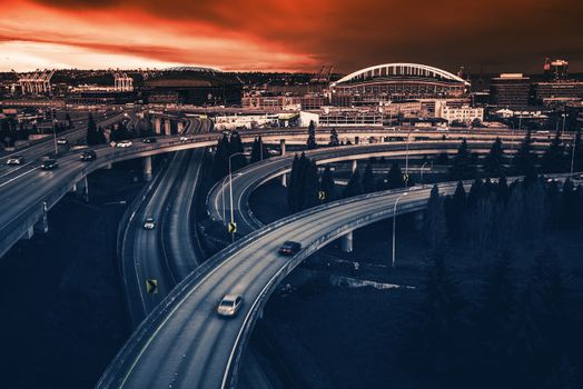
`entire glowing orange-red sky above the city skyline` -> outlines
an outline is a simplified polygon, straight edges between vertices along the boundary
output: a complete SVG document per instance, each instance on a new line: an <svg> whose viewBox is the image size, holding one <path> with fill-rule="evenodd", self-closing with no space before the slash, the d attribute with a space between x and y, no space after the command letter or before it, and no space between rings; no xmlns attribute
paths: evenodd
<svg viewBox="0 0 583 389"><path fill-rule="evenodd" d="M0 0L0 70L147 68L349 72L583 71L580 0Z"/></svg>

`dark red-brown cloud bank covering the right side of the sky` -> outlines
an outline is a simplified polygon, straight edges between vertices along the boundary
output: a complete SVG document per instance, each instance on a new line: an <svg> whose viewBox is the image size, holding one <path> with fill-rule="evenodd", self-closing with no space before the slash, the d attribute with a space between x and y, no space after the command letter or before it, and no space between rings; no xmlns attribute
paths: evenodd
<svg viewBox="0 0 583 389"><path fill-rule="evenodd" d="M448 70L465 66L485 71L538 71L546 56L571 59L572 68L583 71L583 1L580 0L42 0L37 3L71 13L138 10L169 23L169 28L184 29L184 33L196 33L188 30L188 23L202 23L226 34L286 47L318 61L335 63L340 71L392 61L425 62Z"/></svg>

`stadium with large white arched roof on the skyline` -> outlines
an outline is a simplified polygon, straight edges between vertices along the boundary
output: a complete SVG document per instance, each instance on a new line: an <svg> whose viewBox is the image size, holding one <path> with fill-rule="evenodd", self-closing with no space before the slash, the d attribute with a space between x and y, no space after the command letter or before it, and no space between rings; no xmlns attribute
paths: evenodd
<svg viewBox="0 0 583 389"><path fill-rule="evenodd" d="M385 63L355 71L329 88L330 102L352 107L411 99L463 98L470 82L418 63Z"/></svg>

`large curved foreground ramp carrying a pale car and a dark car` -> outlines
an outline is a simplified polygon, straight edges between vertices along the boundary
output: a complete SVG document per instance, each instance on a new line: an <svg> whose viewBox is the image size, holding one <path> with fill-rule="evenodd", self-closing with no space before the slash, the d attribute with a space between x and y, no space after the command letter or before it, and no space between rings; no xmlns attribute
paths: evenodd
<svg viewBox="0 0 583 389"><path fill-rule="evenodd" d="M453 193L456 184L442 183L439 191ZM296 213L230 245L190 273L148 316L97 387L235 387L248 337L276 286L330 241L393 217L393 205L407 190L396 215L423 209L431 186L376 192ZM302 242L302 251L293 258L279 256L277 249L285 240ZM226 293L245 298L231 319L216 315Z"/></svg>

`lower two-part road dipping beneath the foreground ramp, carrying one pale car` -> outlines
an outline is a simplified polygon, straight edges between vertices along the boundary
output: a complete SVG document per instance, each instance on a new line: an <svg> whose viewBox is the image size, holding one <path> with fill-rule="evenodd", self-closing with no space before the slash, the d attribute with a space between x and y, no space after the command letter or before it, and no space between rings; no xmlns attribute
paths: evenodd
<svg viewBox="0 0 583 389"><path fill-rule="evenodd" d="M208 132L209 123L190 119L185 132ZM123 228L120 260L134 328L200 262L192 242L190 209L204 153L201 148L175 153ZM154 230L142 227L149 217L155 219ZM148 293L147 279L157 280L156 293Z"/></svg>

